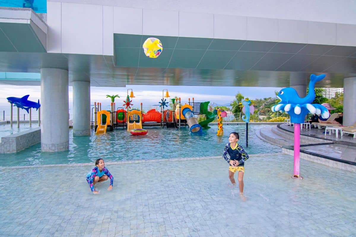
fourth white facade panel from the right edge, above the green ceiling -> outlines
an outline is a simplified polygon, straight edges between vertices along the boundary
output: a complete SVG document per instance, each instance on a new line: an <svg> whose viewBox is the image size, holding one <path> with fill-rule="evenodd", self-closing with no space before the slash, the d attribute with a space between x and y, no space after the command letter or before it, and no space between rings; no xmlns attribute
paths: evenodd
<svg viewBox="0 0 356 237"><path fill-rule="evenodd" d="M278 41L278 19L247 17L247 40Z"/></svg>

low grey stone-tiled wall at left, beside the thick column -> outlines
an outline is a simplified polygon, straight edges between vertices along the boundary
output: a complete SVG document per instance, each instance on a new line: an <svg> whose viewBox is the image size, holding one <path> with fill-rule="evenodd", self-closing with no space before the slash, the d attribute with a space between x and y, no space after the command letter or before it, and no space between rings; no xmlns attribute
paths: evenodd
<svg viewBox="0 0 356 237"><path fill-rule="evenodd" d="M0 153L14 153L41 142L41 129L31 128L26 131L1 138Z"/></svg>

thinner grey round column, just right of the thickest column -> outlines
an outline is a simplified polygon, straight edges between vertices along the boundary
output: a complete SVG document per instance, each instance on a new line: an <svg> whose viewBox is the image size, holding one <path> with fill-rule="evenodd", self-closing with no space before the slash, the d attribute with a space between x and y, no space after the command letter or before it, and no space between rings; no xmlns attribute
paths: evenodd
<svg viewBox="0 0 356 237"><path fill-rule="evenodd" d="M73 135L90 135L89 81L73 81Z"/></svg>

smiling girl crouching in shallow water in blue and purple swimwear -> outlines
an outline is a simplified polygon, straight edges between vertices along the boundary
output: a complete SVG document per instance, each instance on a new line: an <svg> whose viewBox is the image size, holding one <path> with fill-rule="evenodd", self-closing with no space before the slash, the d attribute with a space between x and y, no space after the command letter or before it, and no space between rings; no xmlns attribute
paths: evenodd
<svg viewBox="0 0 356 237"><path fill-rule="evenodd" d="M108 190L111 190L114 177L112 177L109 170L105 168L104 160L99 158L95 161L95 167L93 170L87 174L87 182L90 185L91 192L98 194L99 191L95 191L94 184L96 184L96 182L103 182L108 180L108 178L110 178L110 185Z"/></svg>

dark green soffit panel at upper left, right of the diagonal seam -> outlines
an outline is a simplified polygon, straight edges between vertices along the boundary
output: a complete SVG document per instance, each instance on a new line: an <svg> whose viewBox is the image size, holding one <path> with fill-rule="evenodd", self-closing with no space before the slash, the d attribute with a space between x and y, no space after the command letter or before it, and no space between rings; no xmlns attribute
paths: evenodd
<svg viewBox="0 0 356 237"><path fill-rule="evenodd" d="M46 49L31 29L30 24L1 23L0 27L18 52L46 53ZM13 48L10 47L9 51L13 51Z"/></svg>

